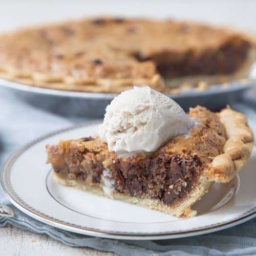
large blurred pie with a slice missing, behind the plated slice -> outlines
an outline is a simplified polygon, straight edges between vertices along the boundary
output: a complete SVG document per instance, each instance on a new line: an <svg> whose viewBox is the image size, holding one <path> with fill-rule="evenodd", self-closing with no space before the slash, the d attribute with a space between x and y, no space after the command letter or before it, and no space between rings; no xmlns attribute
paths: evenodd
<svg viewBox="0 0 256 256"><path fill-rule="evenodd" d="M250 36L173 20L84 19L0 37L0 77L68 91L173 92L166 86L243 78L254 60Z"/></svg>

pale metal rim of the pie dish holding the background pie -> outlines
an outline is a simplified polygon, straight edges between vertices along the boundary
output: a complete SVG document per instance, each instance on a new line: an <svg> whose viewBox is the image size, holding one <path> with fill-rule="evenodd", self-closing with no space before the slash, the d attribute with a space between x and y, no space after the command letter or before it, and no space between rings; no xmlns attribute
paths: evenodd
<svg viewBox="0 0 256 256"><path fill-rule="evenodd" d="M195 91L187 91L181 92L180 94L167 94L169 97L173 99L183 98L183 97L197 97L197 96L205 96L205 95L213 95L213 94L221 94L221 93L229 93L234 91L243 91L250 89L256 84L256 78L248 78L248 83L242 84L240 81L230 82L230 86L227 88L221 87L221 84L212 84L211 87L206 91L195 92ZM15 81L10 81L4 78L0 78L0 85L16 89L19 91L25 91L36 94L44 94L51 96L61 96L61 97L71 97L71 98L84 98L84 99L114 99L118 94L117 93L90 93L90 92L72 92L72 91L63 91L49 88L40 88L29 86L28 84L19 83Z"/></svg>

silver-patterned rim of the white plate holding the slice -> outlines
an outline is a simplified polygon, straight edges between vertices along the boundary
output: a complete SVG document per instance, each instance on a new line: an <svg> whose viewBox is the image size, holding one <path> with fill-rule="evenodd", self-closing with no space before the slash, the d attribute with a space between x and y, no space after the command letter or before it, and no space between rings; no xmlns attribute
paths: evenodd
<svg viewBox="0 0 256 256"><path fill-rule="evenodd" d="M9 159L6 161L6 163L1 168L0 173L0 182L3 188L3 191L7 198L11 201L11 203L16 206L18 209L25 212L25 214L41 221L46 224L49 224L51 226L65 229L69 231L73 231L76 233L86 234L89 236L96 236L96 237L104 237L104 238L113 238L113 239L140 239L140 240L159 240L159 239L174 239L174 238L182 238L182 237L190 237L190 236L198 236L199 234L205 234L210 232L219 231L225 228L229 228L232 226L236 226L238 224L241 224L247 220L250 220L256 216L256 206L253 208L243 212L243 214L237 216L236 218L233 218L229 221L219 222L215 224L210 224L202 227L196 227L186 230L174 230L174 231L168 231L168 232L160 232L160 233L133 233L133 232L116 232L116 231L109 231L109 230L100 230L100 229L93 229L88 228L84 226L79 226L72 223L67 223L65 221L61 221L55 218L52 218L51 216L48 216L36 209L34 209L32 206L28 205L26 202L24 202L22 199L19 198L19 196L15 193L14 188L12 187L11 181L10 181L10 173L12 170L12 166L16 159L22 155L24 152L26 152L30 147L34 146L38 142L41 142L45 139L48 139L50 137L53 137L55 135L61 134L63 132L68 132L72 130L79 129L84 126L89 125L95 125L99 123L98 120L94 121L88 121L83 124L75 125L66 129L61 129L56 132L49 133L45 136L41 136L38 139L35 139L26 145L24 145L22 148L17 150L15 153L13 153Z"/></svg>

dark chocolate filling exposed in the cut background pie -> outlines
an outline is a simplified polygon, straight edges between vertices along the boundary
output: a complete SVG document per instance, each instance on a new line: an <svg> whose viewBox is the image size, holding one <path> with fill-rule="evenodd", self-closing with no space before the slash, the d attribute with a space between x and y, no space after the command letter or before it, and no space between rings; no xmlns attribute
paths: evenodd
<svg viewBox="0 0 256 256"><path fill-rule="evenodd" d="M157 69L164 78L232 74L242 67L249 49L246 41L231 41L220 49L206 49L200 54L191 51L183 56L163 53L151 59L157 63Z"/></svg>

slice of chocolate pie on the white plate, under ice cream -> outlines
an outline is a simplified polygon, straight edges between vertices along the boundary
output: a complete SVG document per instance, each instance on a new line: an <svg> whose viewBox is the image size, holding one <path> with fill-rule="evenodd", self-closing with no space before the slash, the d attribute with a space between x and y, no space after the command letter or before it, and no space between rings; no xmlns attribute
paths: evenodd
<svg viewBox="0 0 256 256"><path fill-rule="evenodd" d="M99 137L47 145L56 180L98 195L167 214L191 217L190 207L214 182L229 182L250 156L253 134L246 117L226 108L190 109L196 123L153 153L128 158L110 152Z"/></svg>

